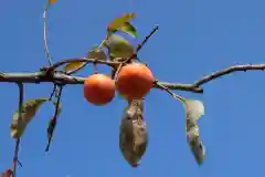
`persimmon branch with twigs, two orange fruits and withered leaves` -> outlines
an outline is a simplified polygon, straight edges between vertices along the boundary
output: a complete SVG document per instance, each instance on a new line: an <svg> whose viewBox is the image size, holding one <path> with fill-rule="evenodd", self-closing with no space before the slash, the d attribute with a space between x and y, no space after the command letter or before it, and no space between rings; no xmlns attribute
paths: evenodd
<svg viewBox="0 0 265 177"><path fill-rule="evenodd" d="M2 177L14 177L17 164L22 166L18 157L20 139L26 126L44 103L51 103L55 107L46 129L47 145L45 152L49 152L57 117L62 111L61 97L63 88L71 84L84 86L84 97L91 105L104 106L108 104L115 97L116 92L120 98L128 103L120 121L119 148L124 158L131 167L137 167L140 164L140 159L148 146L148 131L144 118L145 96L148 95L151 88L158 88L168 93L174 100L180 101L184 107L187 142L195 162L198 165L202 165L205 158L205 147L199 134L198 121L204 115L203 103L198 100L184 98L173 91L203 93L202 85L215 79L239 71L265 70L265 64L235 65L206 75L192 84L158 81L148 69L148 64L142 63L138 58L138 52L159 28L155 27L150 34L137 46L134 46L120 35L124 33L132 39L138 38L137 29L131 23L132 19L136 18L135 13L126 13L112 21L107 27L106 38L98 46L89 50L87 56L53 63L47 45L46 15L49 8L55 2L56 0L49 0L43 13L44 45L49 65L33 73L0 73L0 82L17 83L19 87L18 111L14 112L10 125L11 137L15 140L13 167L3 171ZM76 74L88 64L94 65L94 73L85 77L77 76ZM97 72L100 65L109 66L109 75ZM35 100L24 100L24 84L40 84L44 82L53 83L51 95Z"/></svg>

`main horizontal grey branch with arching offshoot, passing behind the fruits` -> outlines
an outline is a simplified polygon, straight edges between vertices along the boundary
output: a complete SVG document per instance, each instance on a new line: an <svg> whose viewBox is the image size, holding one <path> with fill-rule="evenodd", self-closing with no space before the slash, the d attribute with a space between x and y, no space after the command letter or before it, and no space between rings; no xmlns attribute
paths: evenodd
<svg viewBox="0 0 265 177"><path fill-rule="evenodd" d="M55 83L55 84L65 84L65 85L75 85L75 84L83 84L86 77L82 76L71 76L67 74L64 74L60 71L54 71L56 67L71 63L71 62L87 62L87 63L97 63L97 64L106 64L109 66L117 66L120 64L120 62L109 62L109 61L99 61L94 59L71 59L65 60L59 63L55 63L53 66L47 67L46 71L40 71L34 73L0 73L0 82L10 82L10 83ZM179 90L179 91L186 91L186 92L193 92L193 93L203 93L203 88L201 87L203 84L209 83L215 79L222 77L224 75L229 75L234 72L239 71L264 71L265 64L246 64L246 65L234 65L227 69L224 69L222 71L218 71L213 74L206 75L202 77L201 80L197 81L194 84L181 84L181 83L169 83L169 82L157 82L159 85L166 86L169 90ZM53 71L53 72L47 72ZM52 74L51 74L52 73ZM159 88L153 86L155 88Z"/></svg>

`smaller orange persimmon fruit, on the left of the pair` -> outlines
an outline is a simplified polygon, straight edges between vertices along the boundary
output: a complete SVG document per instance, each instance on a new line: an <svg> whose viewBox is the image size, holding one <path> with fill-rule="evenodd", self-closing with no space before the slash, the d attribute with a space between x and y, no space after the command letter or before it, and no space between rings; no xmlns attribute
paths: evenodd
<svg viewBox="0 0 265 177"><path fill-rule="evenodd" d="M115 97L115 82L105 74L93 74L84 82L84 97L91 104L102 106Z"/></svg>

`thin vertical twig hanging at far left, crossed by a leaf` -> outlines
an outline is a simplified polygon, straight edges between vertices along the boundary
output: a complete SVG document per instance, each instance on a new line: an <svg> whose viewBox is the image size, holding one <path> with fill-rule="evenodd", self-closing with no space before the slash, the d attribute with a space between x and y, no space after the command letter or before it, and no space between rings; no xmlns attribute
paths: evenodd
<svg viewBox="0 0 265 177"><path fill-rule="evenodd" d="M21 82L18 83L18 86L19 86L19 119L22 119L24 88L23 88L23 84ZM17 164L18 164L18 159L19 159L19 145L20 145L20 138L17 138L14 156L13 156L13 177L15 177Z"/></svg>

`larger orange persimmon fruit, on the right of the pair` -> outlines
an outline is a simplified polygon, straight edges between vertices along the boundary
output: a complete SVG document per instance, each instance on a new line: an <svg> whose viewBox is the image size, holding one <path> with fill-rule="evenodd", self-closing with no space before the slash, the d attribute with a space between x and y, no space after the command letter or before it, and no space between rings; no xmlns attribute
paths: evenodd
<svg viewBox="0 0 265 177"><path fill-rule="evenodd" d="M145 97L152 88L152 72L141 63L130 63L121 67L116 80L116 90L128 101Z"/></svg>

